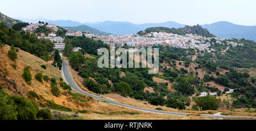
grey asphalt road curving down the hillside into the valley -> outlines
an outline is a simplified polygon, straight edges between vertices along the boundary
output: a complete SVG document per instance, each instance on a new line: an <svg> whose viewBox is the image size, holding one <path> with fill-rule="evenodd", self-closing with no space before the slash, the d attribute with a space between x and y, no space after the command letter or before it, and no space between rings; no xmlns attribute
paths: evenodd
<svg viewBox="0 0 256 131"><path fill-rule="evenodd" d="M181 113L181 112L168 112L168 111L152 110L152 109L147 109L147 108L130 106L130 105L127 105L127 104L110 101L109 99L102 98L98 95L90 94L90 93L88 93L88 92L79 88L79 85L77 85L77 83L73 79L73 76L72 76L71 72L69 71L69 65L68 65L67 60L63 60L62 65L63 65L63 67L62 67L62 76L64 78L64 81L67 82L67 84L71 85L73 90L78 91L82 94L88 95L92 98L100 99L101 101L105 101L105 102L108 102L110 104L114 104L114 105L117 105L117 106L131 108L131 109L134 109L134 110L139 110L139 111L144 111L144 112L162 113L162 114L167 114L167 115L180 115L180 116L189 114L189 113ZM201 114L201 116L214 117L214 118L241 118L241 119L251 119L251 118L255 119L256 118L256 117L249 117L249 116L224 116L224 115L205 115L205 114Z"/></svg>

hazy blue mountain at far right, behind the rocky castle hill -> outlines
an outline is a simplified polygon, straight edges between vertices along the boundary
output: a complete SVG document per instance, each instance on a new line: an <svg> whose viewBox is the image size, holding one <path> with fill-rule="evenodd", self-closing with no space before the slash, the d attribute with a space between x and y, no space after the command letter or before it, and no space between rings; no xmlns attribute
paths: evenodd
<svg viewBox="0 0 256 131"><path fill-rule="evenodd" d="M256 41L256 26L245 26L230 23L228 21L218 21L212 24L201 25L209 32L221 38L247 38Z"/></svg>

